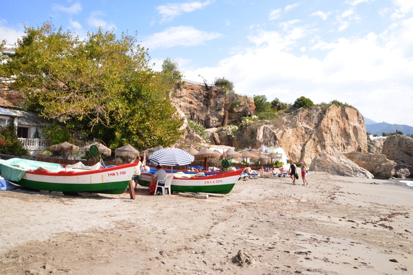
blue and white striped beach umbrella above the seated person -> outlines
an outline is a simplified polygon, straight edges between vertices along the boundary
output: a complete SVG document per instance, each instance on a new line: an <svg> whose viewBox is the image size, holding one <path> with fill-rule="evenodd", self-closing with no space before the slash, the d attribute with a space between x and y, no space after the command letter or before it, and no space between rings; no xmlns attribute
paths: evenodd
<svg viewBox="0 0 413 275"><path fill-rule="evenodd" d="M161 165L187 165L193 162L193 155L178 148L164 148L149 157L151 162Z"/></svg>

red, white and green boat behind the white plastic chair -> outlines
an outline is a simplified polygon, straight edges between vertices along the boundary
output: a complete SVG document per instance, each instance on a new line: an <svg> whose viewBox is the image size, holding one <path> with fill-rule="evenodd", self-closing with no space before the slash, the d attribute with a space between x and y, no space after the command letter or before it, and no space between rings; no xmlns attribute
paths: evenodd
<svg viewBox="0 0 413 275"><path fill-rule="evenodd" d="M204 176L174 174L171 182L171 190L176 192L209 192L228 194L233 189L235 182L240 178L241 170L225 173L206 173ZM141 186L149 186L151 174L142 173L138 183Z"/></svg>

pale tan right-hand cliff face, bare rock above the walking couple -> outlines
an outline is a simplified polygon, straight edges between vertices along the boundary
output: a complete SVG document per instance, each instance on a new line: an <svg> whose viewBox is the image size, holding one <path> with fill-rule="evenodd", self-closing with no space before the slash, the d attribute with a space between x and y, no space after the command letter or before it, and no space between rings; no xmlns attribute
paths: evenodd
<svg viewBox="0 0 413 275"><path fill-rule="evenodd" d="M294 115L285 114L266 124L247 126L229 145L260 148L262 144L281 146L289 159L309 164L326 148L349 153L361 146L366 152L366 126L355 109L332 105L324 114L321 107L313 107L299 109Z"/></svg>

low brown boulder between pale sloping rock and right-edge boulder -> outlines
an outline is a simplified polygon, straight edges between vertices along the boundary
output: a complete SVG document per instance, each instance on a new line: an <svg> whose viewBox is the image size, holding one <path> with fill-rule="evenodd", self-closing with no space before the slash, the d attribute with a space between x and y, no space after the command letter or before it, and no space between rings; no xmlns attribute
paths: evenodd
<svg viewBox="0 0 413 275"><path fill-rule="evenodd" d="M361 168L368 170L376 178L389 179L395 174L396 162L388 159L385 155L361 152L350 152L343 155Z"/></svg>

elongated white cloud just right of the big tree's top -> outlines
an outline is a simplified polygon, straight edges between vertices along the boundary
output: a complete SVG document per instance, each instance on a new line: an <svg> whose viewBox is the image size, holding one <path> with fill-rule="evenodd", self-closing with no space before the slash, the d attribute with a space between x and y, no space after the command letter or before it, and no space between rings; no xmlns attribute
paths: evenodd
<svg viewBox="0 0 413 275"><path fill-rule="evenodd" d="M167 28L163 32L157 32L145 37L142 45L149 50L158 48L168 48L175 46L194 46L201 45L206 41L218 39L222 34L218 32L202 32L193 27L180 26Z"/></svg>

